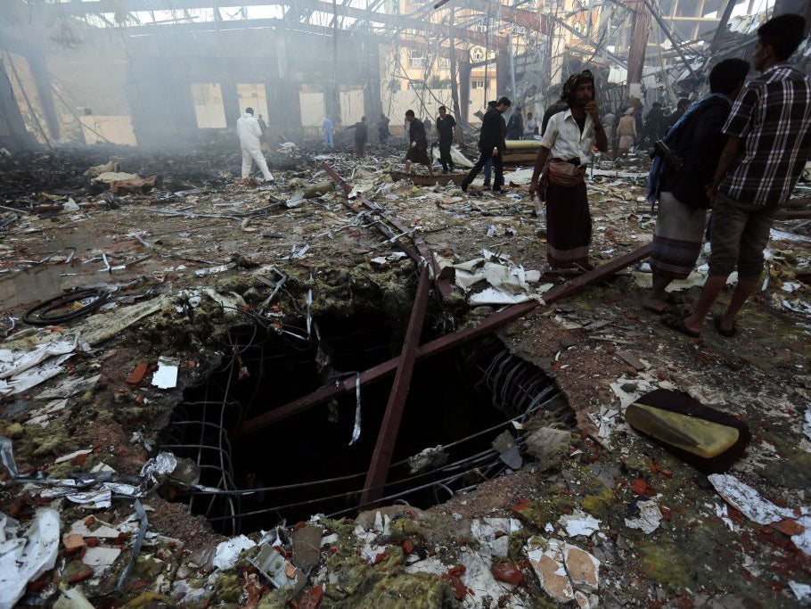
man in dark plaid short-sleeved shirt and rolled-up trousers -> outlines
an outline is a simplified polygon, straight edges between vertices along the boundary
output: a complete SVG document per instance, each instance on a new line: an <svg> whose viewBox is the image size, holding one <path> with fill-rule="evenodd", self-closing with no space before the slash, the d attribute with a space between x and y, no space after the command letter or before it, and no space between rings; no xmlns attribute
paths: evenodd
<svg viewBox="0 0 811 609"><path fill-rule="evenodd" d="M697 337L704 318L737 267L738 285L718 333L733 336L735 317L755 291L763 270L763 250L777 208L788 200L811 155L811 78L787 63L804 37L806 21L783 14L758 29L752 54L761 72L743 88L722 132L724 152L709 186L712 227L709 277L689 317L663 323Z"/></svg>

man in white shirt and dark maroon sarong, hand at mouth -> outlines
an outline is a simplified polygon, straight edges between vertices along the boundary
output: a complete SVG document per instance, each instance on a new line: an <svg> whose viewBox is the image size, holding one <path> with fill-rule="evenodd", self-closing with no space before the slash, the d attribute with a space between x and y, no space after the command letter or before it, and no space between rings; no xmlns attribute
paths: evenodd
<svg viewBox="0 0 811 609"><path fill-rule="evenodd" d="M596 144L608 150L600 111L594 102L594 77L589 70L569 77L563 86L569 109L549 119L535 162L531 196L546 202L546 259L551 267L590 268L588 246L592 218L586 195L586 163ZM549 161L548 167L547 162ZM538 178L545 174L544 193Z"/></svg>

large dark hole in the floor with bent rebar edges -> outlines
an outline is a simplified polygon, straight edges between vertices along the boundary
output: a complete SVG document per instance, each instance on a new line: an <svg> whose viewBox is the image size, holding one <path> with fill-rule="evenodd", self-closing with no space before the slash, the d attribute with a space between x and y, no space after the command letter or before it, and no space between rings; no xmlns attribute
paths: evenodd
<svg viewBox="0 0 811 609"><path fill-rule="evenodd" d="M228 437L235 424L307 395L338 374L351 377L396 357L403 340L402 327L374 311L323 317L316 325L308 342L253 326L233 328L233 356L186 391L162 433L162 447L193 459L200 484L218 490L178 489L176 495L217 531L256 531L283 519L358 509L393 374L361 386L361 433L351 446L354 391L238 440ZM422 342L434 338L429 334ZM503 473L508 465L491 444L504 431L520 444L509 420L533 408L556 410L561 419L571 415L553 382L495 338L418 361L383 502L427 508ZM440 445L438 457L412 469L408 457Z"/></svg>

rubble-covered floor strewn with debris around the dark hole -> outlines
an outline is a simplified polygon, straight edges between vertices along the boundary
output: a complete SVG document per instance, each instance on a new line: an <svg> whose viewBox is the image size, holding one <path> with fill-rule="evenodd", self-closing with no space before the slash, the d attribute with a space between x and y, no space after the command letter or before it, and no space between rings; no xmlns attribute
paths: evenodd
<svg viewBox="0 0 811 609"><path fill-rule="evenodd" d="M811 297L798 280L808 271L811 239L801 221L775 226L784 233L769 244L765 291L743 310L733 339L709 323L698 340L660 325L640 304L650 282L644 265L501 329L513 354L554 379L578 423L567 427L541 412L513 430L528 438L521 440L520 471L424 512L389 506L355 522L321 518L283 529L267 514L263 529L270 532L242 539L248 548L239 558L238 550L225 556L228 547L218 546L225 538L170 502L174 487L150 459L184 390L233 357L227 328L259 319L270 333L291 333L297 342L292 334L306 334L308 319L377 311L405 328L411 311L414 262L399 255L356 200L346 204L340 189L324 184L330 180L321 160L418 228L443 263L482 258L486 251L490 265L513 277L491 281L491 297L534 298L549 278L535 281L529 273L546 265L543 222L532 215L525 185L494 196L473 189L464 194L453 185L394 183L385 170L401 169L399 151L373 149L365 160L320 152L271 153L276 181L261 186L236 183L238 151L217 144L174 155L99 146L4 161L0 329L9 335L0 353L8 360L11 353L2 350L75 343L64 348L70 358L48 360L64 358L59 374L44 383L13 393L12 385L0 385L7 393L0 398L0 434L11 439L22 476L12 481L4 470L0 511L22 527L0 521L0 532L8 539L30 537L34 527L26 525L53 515L49 506L60 523L55 564L28 574L24 602L53 599L59 590L61 603L73 603L62 606L86 606L75 600L79 591L95 606L289 606L294 599L299 607L430 607L456 606L461 598L465 606L771 607L811 601ZM147 193L111 195L107 185L91 185L82 175L111 158L121 171L162 180ZM648 243L655 217L640 202L641 160L618 168L602 162L598 169L589 193L592 252L602 264ZM519 184L526 178L526 171L512 175ZM457 279L474 276L482 264L464 267L470 274L457 269ZM267 301L279 272L287 279ZM697 296L700 280L699 273L692 286L675 292L684 307ZM64 289L99 284L118 289L88 317L43 330L20 320ZM483 287L457 288L442 303L434 297L428 331L450 332L496 310L466 304ZM398 350L395 345L392 357ZM160 357L176 362L174 388L152 385ZM139 378L142 362L148 367ZM624 407L658 387L686 391L750 425L753 439L733 478L709 479L624 424ZM544 427L563 431L533 434ZM361 426L362 435L375 432ZM273 428L258 433L265 434L268 459L296 466L296 457L274 453ZM306 432L301 442L306 446ZM144 463L155 465L154 478L142 472ZM43 491L50 487L22 483L34 473L75 481L80 472L98 478L110 468L140 483L145 521L132 497L116 498L119 488L111 506L103 506L104 497L94 497L96 504L86 496L74 497L84 503L47 498ZM754 494L735 504L727 489L730 501L722 498L717 487L738 482ZM753 522L758 497L773 502L770 509L780 517ZM143 547L126 572L143 522ZM274 544L284 560L272 584L255 564L274 562L275 555L262 554Z"/></svg>

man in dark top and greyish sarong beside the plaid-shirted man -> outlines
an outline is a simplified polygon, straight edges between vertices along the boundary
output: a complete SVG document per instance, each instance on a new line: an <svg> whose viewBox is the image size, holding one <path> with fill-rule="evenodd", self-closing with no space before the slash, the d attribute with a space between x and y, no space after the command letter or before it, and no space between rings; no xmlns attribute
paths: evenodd
<svg viewBox="0 0 811 609"><path fill-rule="evenodd" d="M707 187L726 142L721 129L749 69L742 59L717 63L709 73L710 94L693 103L664 137L675 158L653 160L648 201L652 205L659 199L659 212L651 253L653 288L643 300L645 309L667 310L668 285L686 279L699 257L709 210ZM681 168L673 167L673 161L681 162Z"/></svg>

